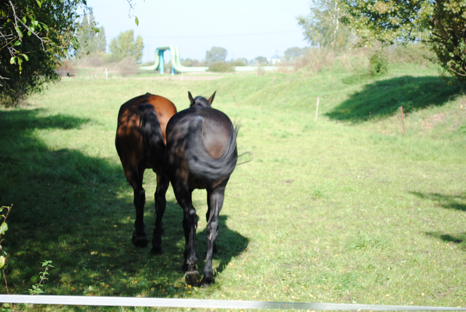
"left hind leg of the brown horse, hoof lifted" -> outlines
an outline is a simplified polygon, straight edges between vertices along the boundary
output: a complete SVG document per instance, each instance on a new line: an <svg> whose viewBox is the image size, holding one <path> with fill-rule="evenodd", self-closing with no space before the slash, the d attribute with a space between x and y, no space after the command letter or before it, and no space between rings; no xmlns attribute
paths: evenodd
<svg viewBox="0 0 466 312"><path fill-rule="evenodd" d="M134 190L134 207L136 208L136 221L134 222L135 230L131 241L136 247L145 247L149 243L147 235L144 232L144 205L145 191L143 188L144 168L139 170L125 170L126 179Z"/></svg>

